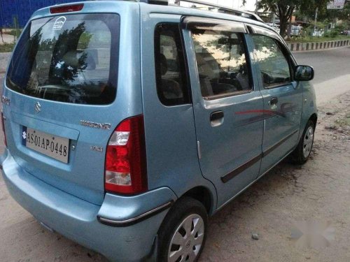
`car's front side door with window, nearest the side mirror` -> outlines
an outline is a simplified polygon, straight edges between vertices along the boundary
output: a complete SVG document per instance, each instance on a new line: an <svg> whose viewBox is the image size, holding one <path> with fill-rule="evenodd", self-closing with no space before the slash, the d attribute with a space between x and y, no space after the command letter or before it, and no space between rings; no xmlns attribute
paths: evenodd
<svg viewBox="0 0 350 262"><path fill-rule="evenodd" d="M297 145L302 114L302 87L293 81L294 61L276 38L253 34L265 126L262 142L263 175Z"/></svg>

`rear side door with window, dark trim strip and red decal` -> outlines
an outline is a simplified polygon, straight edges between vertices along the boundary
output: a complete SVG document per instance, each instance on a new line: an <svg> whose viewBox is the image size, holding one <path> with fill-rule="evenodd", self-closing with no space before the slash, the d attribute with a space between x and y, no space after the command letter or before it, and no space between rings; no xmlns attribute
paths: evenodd
<svg viewBox="0 0 350 262"><path fill-rule="evenodd" d="M262 96L253 85L244 24L188 17L184 27L200 166L220 207L259 173Z"/></svg>

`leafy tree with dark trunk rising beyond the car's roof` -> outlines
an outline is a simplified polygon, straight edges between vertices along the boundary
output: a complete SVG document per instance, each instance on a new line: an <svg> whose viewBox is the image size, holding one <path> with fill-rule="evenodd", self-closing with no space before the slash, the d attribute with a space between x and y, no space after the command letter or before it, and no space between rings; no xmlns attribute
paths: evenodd
<svg viewBox="0 0 350 262"><path fill-rule="evenodd" d="M260 0L258 7L274 12L280 20L281 36L286 36L290 17L295 10L313 10L325 8L329 0Z"/></svg>

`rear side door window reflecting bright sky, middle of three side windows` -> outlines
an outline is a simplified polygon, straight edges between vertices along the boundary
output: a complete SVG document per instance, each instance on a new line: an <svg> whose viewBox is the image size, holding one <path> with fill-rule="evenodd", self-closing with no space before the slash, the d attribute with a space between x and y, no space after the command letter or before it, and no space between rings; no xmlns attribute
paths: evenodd
<svg viewBox="0 0 350 262"><path fill-rule="evenodd" d="M213 29L193 29L202 96L250 92L251 73L241 34Z"/></svg>

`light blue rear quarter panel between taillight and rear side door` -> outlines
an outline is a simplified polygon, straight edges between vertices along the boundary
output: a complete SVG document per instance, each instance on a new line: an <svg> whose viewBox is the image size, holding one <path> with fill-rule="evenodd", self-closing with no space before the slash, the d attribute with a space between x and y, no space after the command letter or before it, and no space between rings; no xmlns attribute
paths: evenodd
<svg viewBox="0 0 350 262"><path fill-rule="evenodd" d="M162 6L143 3L140 6L148 188L169 187L180 197L194 187L206 187L211 191L215 210L216 189L204 179L198 162L193 105L165 106L158 99L156 89L155 27L160 22L179 23L181 15L163 14Z"/></svg>

